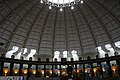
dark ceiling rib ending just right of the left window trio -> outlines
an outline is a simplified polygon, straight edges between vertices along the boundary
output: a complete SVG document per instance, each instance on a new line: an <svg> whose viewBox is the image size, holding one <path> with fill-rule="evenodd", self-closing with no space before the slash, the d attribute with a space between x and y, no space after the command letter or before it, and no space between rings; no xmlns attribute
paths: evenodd
<svg viewBox="0 0 120 80"><path fill-rule="evenodd" d="M51 12L51 10L49 10L49 11L47 12L47 15L46 15L46 17L45 17L45 21L44 21L44 23L43 23L43 27L42 27L42 30L41 30L41 33L40 33L39 43L38 43L38 49L37 49L37 50L38 50L38 54L40 54L39 52L40 52L40 45L41 45L41 42L42 42L42 36L43 36L43 32L44 32L44 29L45 29L45 25L46 25L47 20L48 20L48 18L49 18L50 12Z"/></svg>

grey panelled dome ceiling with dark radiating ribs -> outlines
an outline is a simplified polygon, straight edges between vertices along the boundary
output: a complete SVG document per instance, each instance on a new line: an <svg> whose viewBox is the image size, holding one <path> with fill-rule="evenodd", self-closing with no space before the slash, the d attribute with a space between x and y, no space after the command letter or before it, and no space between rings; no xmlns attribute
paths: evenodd
<svg viewBox="0 0 120 80"><path fill-rule="evenodd" d="M36 49L38 55L77 50L78 55L96 53L95 48L120 40L119 0L84 0L73 10L61 12L40 0L0 0L0 42Z"/></svg>

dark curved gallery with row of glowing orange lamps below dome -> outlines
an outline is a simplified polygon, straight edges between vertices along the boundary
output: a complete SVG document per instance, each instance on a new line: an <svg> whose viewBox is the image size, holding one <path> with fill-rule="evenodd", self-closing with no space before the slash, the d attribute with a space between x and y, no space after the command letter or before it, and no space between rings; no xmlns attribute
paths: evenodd
<svg viewBox="0 0 120 80"><path fill-rule="evenodd" d="M96 56L96 59L88 56L87 60L82 60L80 57L79 61L74 61L73 58L71 61L66 61L62 58L61 62L57 59L54 62L49 61L48 58L46 61L41 61L40 58L38 61L32 61L32 58L18 60L14 59L14 56L0 57L0 76L27 76L28 79L30 77L119 78L120 55L109 57L106 54L105 58Z"/></svg>

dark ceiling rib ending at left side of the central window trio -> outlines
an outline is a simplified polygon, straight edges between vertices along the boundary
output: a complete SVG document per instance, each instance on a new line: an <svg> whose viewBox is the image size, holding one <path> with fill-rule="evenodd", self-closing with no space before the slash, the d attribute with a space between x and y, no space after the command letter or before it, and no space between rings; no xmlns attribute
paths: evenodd
<svg viewBox="0 0 120 80"><path fill-rule="evenodd" d="M55 30L56 30L56 21L57 21L58 8L56 9L54 28L53 28L53 41L52 41L52 58L54 57L54 42L55 42Z"/></svg>

